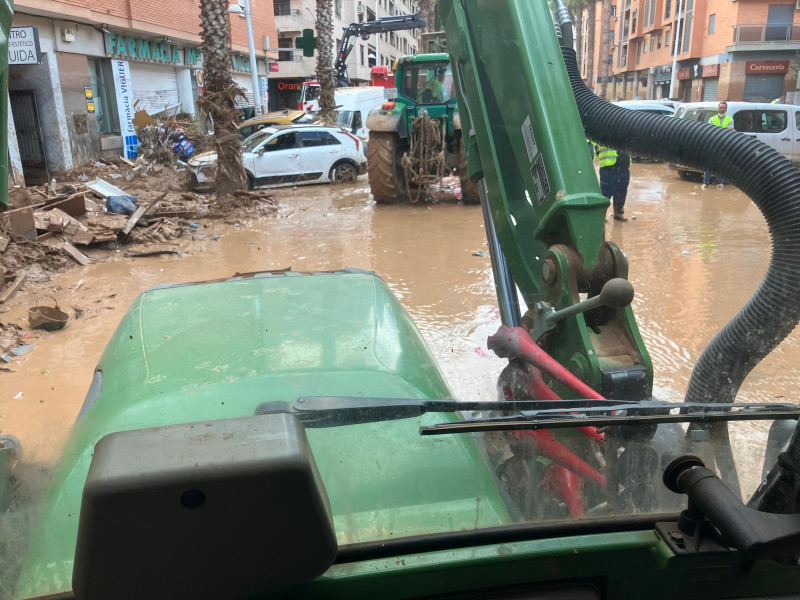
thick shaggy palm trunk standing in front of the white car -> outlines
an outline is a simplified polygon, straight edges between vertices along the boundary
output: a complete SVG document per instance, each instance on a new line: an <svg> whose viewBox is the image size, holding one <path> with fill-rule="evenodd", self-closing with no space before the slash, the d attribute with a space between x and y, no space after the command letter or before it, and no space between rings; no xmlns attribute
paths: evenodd
<svg viewBox="0 0 800 600"><path fill-rule="evenodd" d="M236 98L244 94L231 78L227 0L200 0L200 22L205 93L198 98L197 107L214 126L216 187L217 195L221 197L247 187L247 174L242 165L242 143L236 127L239 120Z"/></svg>

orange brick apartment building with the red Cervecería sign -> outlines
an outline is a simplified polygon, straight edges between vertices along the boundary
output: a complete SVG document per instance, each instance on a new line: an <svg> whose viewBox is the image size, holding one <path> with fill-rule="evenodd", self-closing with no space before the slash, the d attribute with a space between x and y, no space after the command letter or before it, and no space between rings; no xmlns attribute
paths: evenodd
<svg viewBox="0 0 800 600"><path fill-rule="evenodd" d="M603 4L596 5L594 68L601 81ZM771 101L797 89L800 61L797 0L615 0L611 16L609 99L673 96L699 100Z"/></svg>

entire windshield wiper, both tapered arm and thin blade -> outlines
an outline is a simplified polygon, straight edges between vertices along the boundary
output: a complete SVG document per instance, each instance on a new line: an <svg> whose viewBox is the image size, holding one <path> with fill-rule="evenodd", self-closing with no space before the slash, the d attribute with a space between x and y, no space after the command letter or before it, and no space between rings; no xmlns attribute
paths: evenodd
<svg viewBox="0 0 800 600"><path fill-rule="evenodd" d="M338 427L420 417L425 413L464 411L511 412L420 427L421 435L504 431L511 429L562 429L584 425L649 425L652 423L710 423L797 419L800 406L737 402L733 404L672 403L655 400L507 400L460 401L452 398L360 398L305 396L294 402L265 402L256 414L288 413L308 428ZM677 412L677 414L672 414Z"/></svg>

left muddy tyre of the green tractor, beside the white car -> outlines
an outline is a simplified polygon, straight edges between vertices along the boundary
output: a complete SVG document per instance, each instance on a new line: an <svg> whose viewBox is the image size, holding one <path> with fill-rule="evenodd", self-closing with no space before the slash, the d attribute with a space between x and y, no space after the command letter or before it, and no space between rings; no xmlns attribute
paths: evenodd
<svg viewBox="0 0 800 600"><path fill-rule="evenodd" d="M408 186L400 159L405 144L395 133L370 131L367 175L372 197L378 204L408 202Z"/></svg>

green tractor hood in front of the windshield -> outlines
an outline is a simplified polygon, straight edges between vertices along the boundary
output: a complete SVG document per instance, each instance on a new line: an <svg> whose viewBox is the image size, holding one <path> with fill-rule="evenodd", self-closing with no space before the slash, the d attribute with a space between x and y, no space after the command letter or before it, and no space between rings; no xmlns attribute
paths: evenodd
<svg viewBox="0 0 800 600"><path fill-rule="evenodd" d="M262 402L298 396L452 396L406 312L366 273L145 292L98 369L102 392L73 428L20 597L68 589L83 484L94 445L108 433L247 416ZM421 437L415 419L308 436L340 544L509 522L472 436Z"/></svg>

